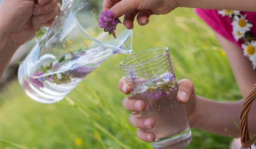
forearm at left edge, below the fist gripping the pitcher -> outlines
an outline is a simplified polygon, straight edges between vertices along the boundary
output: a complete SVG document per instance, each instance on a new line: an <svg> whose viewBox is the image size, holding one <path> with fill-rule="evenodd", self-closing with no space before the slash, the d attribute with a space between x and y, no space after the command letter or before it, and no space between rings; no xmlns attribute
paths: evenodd
<svg viewBox="0 0 256 149"><path fill-rule="evenodd" d="M0 80L17 48L17 46L13 45L7 34L0 28Z"/></svg>

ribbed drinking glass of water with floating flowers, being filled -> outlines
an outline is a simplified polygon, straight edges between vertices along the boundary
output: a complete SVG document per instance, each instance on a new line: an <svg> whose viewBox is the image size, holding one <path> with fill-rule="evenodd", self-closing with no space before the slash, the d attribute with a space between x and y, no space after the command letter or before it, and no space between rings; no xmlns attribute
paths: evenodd
<svg viewBox="0 0 256 149"><path fill-rule="evenodd" d="M135 54L121 62L133 99L146 104L141 117L153 118L155 127L146 129L156 138L152 146L157 149L179 149L192 139L184 106L177 102L178 82L173 70L169 49L156 47Z"/></svg>

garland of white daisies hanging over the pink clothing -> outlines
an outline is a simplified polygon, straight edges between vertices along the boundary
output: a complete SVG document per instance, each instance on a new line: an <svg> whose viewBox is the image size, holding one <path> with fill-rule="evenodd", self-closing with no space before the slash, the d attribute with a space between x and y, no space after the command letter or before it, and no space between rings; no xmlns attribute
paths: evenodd
<svg viewBox="0 0 256 149"><path fill-rule="evenodd" d="M251 28L253 27L251 21L246 19L246 14L242 15L240 11L234 10L218 10L218 14L222 17L229 16L231 25L233 27L232 34L236 41L244 40L241 47L244 51L244 56L247 56L252 62L253 69L256 68L256 38L251 34Z"/></svg>

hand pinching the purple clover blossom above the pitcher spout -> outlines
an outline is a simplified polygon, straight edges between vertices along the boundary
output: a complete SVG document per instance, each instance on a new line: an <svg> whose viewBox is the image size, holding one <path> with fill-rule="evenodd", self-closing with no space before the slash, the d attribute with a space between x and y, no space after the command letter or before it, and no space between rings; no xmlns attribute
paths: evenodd
<svg viewBox="0 0 256 149"><path fill-rule="evenodd" d="M137 16L139 25L146 25L151 15L163 15L174 10L177 0L104 0L103 11L113 11L116 19L125 14L124 25L128 29L133 28L133 21Z"/></svg>

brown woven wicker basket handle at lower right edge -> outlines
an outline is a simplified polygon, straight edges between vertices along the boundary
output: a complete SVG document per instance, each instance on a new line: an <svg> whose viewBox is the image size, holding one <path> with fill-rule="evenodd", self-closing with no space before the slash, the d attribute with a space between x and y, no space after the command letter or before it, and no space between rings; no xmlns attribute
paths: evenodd
<svg viewBox="0 0 256 149"><path fill-rule="evenodd" d="M241 137L242 146L245 146L245 147L251 147L251 145L253 144L253 141L251 140L250 134L248 131L247 120L248 120L250 107L255 97L256 97L256 84L254 85L250 93L245 98L244 105L240 115L240 137Z"/></svg>

